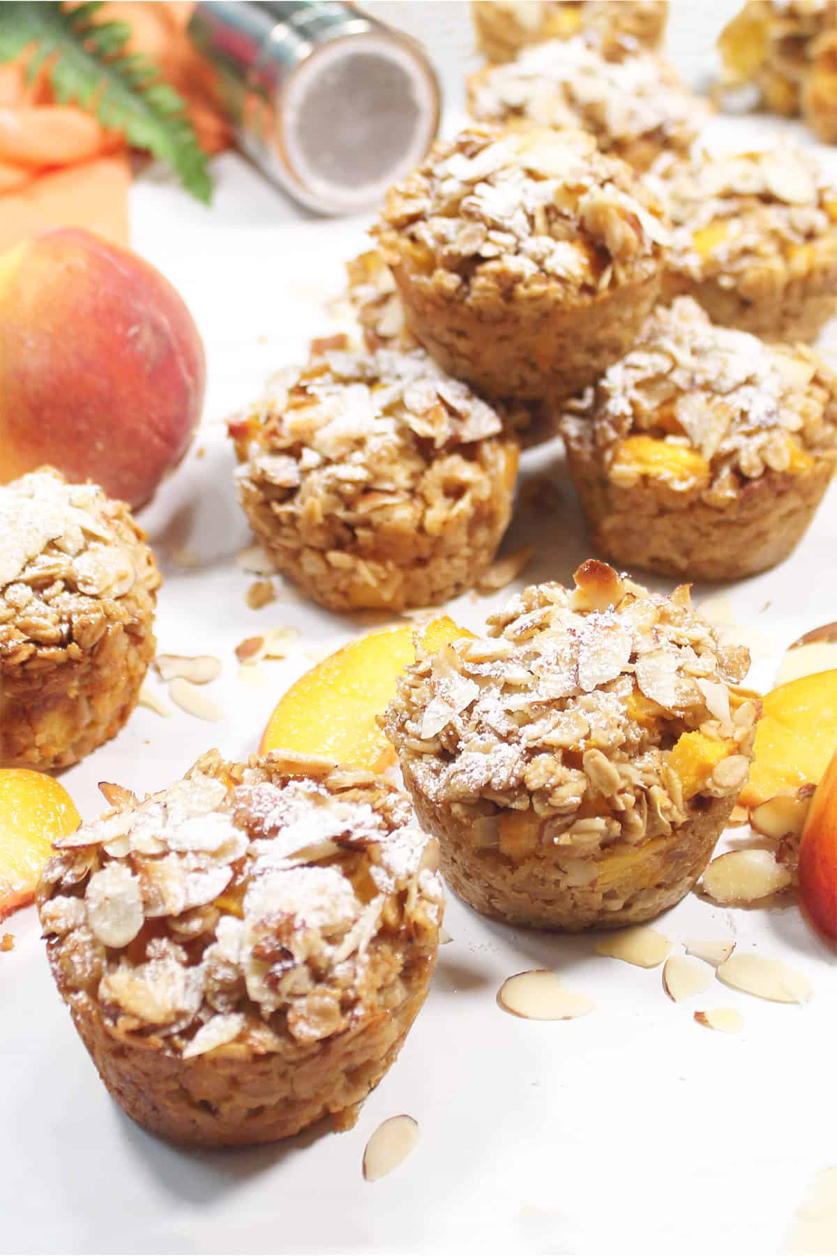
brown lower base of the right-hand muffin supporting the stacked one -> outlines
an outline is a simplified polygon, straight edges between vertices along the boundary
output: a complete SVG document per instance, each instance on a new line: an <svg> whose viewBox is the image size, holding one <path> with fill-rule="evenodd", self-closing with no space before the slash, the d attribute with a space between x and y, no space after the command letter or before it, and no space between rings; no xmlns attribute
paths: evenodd
<svg viewBox="0 0 837 1256"><path fill-rule="evenodd" d="M833 470L831 458L819 458L807 471L767 472L719 509L660 484L611 485L586 447L567 443L567 458L600 558L690 580L740 580L782 563Z"/></svg>

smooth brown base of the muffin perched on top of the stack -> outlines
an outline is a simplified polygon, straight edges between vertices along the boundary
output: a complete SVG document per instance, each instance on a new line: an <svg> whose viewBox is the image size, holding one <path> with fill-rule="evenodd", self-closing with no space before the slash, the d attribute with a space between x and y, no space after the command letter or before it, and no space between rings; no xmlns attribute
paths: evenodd
<svg viewBox="0 0 837 1256"><path fill-rule="evenodd" d="M449 374L501 399L581 392L634 348L660 291L655 270L571 305L548 281L537 296L503 299L492 288L457 300L435 276L412 274L392 254L388 261L413 335Z"/></svg>

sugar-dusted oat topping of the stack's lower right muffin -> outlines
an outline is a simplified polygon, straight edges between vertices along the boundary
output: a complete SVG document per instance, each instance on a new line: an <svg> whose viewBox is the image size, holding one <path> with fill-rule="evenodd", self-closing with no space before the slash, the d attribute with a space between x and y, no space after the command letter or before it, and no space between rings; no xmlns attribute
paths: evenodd
<svg viewBox="0 0 837 1256"><path fill-rule="evenodd" d="M566 438L592 447L607 479L624 487L648 467L625 457L630 437L649 437L656 472L671 453L671 487L723 507L747 482L798 472L837 456L837 376L804 345L767 345L715 327L689 298L658 308L636 348L567 407ZM646 448L646 447L640 447ZM691 451L698 457L678 457Z"/></svg>

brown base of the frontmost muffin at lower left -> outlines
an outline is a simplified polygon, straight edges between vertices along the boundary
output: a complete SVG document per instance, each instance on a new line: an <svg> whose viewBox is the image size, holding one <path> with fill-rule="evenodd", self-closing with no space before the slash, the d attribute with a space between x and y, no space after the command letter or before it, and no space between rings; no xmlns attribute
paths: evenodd
<svg viewBox="0 0 837 1256"><path fill-rule="evenodd" d="M191 1147L246 1147L290 1138L324 1117L349 1129L358 1105L395 1060L427 997L432 962L415 966L407 997L354 1029L300 1048L256 1055L218 1048L183 1060L118 1036L88 995L70 1014L110 1096L144 1129Z"/></svg>

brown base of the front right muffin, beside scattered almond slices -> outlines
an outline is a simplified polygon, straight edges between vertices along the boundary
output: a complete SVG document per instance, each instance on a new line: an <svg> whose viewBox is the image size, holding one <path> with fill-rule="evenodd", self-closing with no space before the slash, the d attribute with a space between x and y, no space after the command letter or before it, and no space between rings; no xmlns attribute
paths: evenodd
<svg viewBox="0 0 837 1256"><path fill-rule="evenodd" d="M491 919L556 932L641 924L674 907L709 863L735 805L734 798L703 799L703 809L693 803L686 821L669 836L609 847L590 860L597 869L590 884L568 885L560 848L543 847L520 863L499 850L478 850L467 820L407 784L422 826L439 839L442 873L459 898Z"/></svg>

